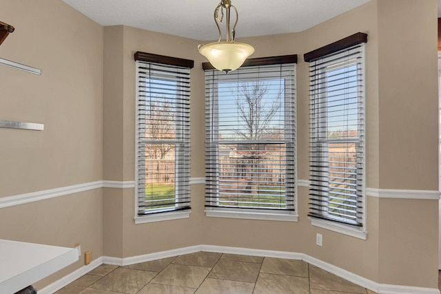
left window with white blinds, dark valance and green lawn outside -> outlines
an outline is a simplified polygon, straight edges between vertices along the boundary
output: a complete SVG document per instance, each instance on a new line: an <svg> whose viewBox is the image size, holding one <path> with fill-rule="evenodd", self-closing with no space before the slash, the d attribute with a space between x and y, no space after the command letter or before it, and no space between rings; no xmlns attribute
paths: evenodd
<svg viewBox="0 0 441 294"><path fill-rule="evenodd" d="M172 212L176 216L176 211L190 209L189 74L193 61L142 52L136 52L135 59L136 213Z"/></svg>

